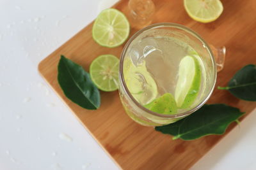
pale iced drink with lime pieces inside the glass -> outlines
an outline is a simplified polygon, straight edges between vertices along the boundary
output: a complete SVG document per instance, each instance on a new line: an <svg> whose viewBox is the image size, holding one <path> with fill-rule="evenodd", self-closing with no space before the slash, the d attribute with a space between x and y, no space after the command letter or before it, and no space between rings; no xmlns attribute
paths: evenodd
<svg viewBox="0 0 256 170"><path fill-rule="evenodd" d="M205 89L203 71L204 62L195 50L170 37L147 37L134 42L124 61L125 82L134 99L147 108L157 98L170 94L172 97L157 102L159 110L164 107L161 103L175 103L167 114L188 110L198 103ZM156 106L153 108L157 112Z"/></svg>

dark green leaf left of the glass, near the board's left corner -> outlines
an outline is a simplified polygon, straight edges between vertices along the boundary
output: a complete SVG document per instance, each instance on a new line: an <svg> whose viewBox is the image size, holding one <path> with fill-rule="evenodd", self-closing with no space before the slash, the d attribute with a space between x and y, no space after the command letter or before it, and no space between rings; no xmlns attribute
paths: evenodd
<svg viewBox="0 0 256 170"><path fill-rule="evenodd" d="M63 55L58 64L58 82L65 96L74 103L88 110L99 108L100 93L90 74Z"/></svg>

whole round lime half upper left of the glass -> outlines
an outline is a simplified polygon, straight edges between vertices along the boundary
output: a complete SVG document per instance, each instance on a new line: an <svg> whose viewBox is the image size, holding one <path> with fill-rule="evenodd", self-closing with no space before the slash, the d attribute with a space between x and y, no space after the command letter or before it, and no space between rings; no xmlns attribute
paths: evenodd
<svg viewBox="0 0 256 170"><path fill-rule="evenodd" d="M113 48L128 38L130 25L124 13L109 8L103 10L92 27L92 37L101 46Z"/></svg>

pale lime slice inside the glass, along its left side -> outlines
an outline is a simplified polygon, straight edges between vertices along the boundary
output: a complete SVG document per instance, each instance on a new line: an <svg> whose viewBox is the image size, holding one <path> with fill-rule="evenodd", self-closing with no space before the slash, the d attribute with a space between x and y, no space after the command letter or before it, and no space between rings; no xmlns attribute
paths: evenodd
<svg viewBox="0 0 256 170"><path fill-rule="evenodd" d="M148 73L145 61L136 67L131 59L125 59L124 79L132 96L140 104L145 105L156 99L156 81Z"/></svg>

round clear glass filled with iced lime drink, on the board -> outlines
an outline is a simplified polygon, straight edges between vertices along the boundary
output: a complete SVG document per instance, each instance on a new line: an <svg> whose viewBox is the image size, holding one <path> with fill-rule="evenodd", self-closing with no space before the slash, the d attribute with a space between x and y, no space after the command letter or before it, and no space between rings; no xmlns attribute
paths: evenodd
<svg viewBox="0 0 256 170"><path fill-rule="evenodd" d="M145 27L120 58L119 92L129 117L166 125L198 110L211 96L216 63L204 39L172 23Z"/></svg>

